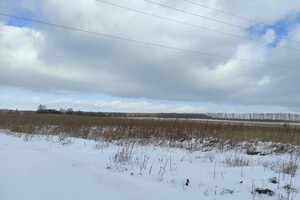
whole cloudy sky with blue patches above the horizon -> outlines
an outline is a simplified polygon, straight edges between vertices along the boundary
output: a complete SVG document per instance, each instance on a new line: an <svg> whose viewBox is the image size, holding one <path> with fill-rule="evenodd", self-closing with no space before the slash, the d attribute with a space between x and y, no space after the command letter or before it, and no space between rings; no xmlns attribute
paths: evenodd
<svg viewBox="0 0 300 200"><path fill-rule="evenodd" d="M97 0L0 2L0 109L300 112L298 0L190 0L240 17L183 0L103 1L173 21Z"/></svg>

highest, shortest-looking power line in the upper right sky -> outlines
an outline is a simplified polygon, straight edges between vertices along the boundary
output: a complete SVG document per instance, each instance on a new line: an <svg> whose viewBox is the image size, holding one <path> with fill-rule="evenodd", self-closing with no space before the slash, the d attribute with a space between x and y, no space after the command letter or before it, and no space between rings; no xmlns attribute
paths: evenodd
<svg viewBox="0 0 300 200"><path fill-rule="evenodd" d="M250 21L250 22L254 22L256 24L261 24L261 25L264 25L264 26L272 26L272 27L278 28L280 30L286 30L286 28L283 28L281 26L267 24L267 23L260 22L260 21L254 20L254 19L250 19L250 18L247 18L247 17L236 15L236 14L224 11L224 10L220 10L220 9L217 9L217 8L209 7L209 6L206 6L206 5L203 5L203 4L199 4L199 3L195 3L193 1L189 1L189 0L181 0L181 1L193 4L193 5L196 5L196 6L199 6L199 7L207 8L207 9L210 9L210 10L213 10L213 11L216 11L216 12L220 12L220 13L223 13L223 14L226 14L226 15L230 15L232 17L236 17L236 18L240 18L240 19L247 20L247 21ZM300 34L298 32L294 32L294 31L290 31L290 33Z"/></svg>

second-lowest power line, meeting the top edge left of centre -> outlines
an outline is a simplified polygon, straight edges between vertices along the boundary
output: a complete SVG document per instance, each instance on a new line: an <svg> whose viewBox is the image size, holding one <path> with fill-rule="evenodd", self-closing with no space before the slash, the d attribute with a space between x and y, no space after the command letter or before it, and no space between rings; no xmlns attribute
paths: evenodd
<svg viewBox="0 0 300 200"><path fill-rule="evenodd" d="M258 42L258 43L261 43L261 44L267 44L267 45L269 45L269 43L265 42L265 41L255 40L255 39L252 39L252 38L247 38L247 37L235 35L235 34L232 34L232 33L226 33L226 32L223 32L223 31L219 31L219 30L215 30L215 29L210 29L210 28L207 28L207 27L197 26L197 25L194 25L194 24L190 24L190 23L178 21L178 20L175 20L175 19L170 19L170 18L163 17L163 16L160 16L160 15L155 15L155 14L147 13L147 12L144 12L144 11L136 10L136 9L133 9L133 8L125 7L125 6L114 4L114 3L109 3L109 2L106 2L106 1L102 1L102 0L95 0L95 1L98 1L98 2L104 3L104 4L108 4L108 5L111 5L111 6L115 6L115 7L118 7L118 8L122 8L122 9L130 10L130 11L134 11L134 12L137 12L139 14L143 14L143 15L155 17L155 18L158 18L158 19L163 19L163 20L171 21L171 22L174 22L174 23L178 23L178 24L182 24L182 25L186 25L186 26L190 26L190 27L194 27L194 28L198 28L198 29L204 29L204 30L207 30L207 31L212 31L212 32L220 33L220 34L231 36L231 37L241 38L241 39L250 40L250 41ZM286 46L280 45L280 44L277 44L276 46L279 47L279 48L284 48L284 49L288 49L288 50L300 51L300 49L286 47Z"/></svg>

